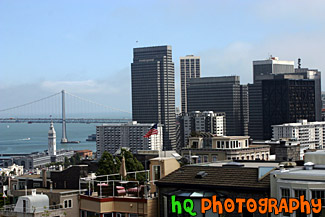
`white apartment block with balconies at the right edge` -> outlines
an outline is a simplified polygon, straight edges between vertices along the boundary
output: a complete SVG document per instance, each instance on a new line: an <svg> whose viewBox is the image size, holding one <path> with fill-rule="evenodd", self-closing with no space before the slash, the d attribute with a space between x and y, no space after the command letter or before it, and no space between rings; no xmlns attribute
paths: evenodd
<svg viewBox="0 0 325 217"><path fill-rule="evenodd" d="M306 149L323 149L325 141L325 121L273 125L273 139L295 139L300 143L301 152Z"/></svg>

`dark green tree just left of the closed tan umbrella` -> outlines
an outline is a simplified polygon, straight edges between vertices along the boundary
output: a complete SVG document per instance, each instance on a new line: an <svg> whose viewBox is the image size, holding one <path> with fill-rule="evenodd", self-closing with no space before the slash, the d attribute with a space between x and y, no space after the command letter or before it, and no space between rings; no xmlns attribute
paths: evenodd
<svg viewBox="0 0 325 217"><path fill-rule="evenodd" d="M115 160L114 160L115 159ZM120 170L121 162L118 157L113 157L107 151L104 151L102 157L98 162L97 175L109 175L118 173Z"/></svg>

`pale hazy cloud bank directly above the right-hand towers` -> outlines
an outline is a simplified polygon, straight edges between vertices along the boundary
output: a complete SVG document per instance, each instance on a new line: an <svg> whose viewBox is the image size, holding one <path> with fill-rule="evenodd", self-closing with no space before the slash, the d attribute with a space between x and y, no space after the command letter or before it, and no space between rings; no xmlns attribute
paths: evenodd
<svg viewBox="0 0 325 217"><path fill-rule="evenodd" d="M251 83L253 77L252 61L277 56L280 60L302 59L302 67L325 72L323 50L325 33L288 33L276 37L266 37L262 41L236 41L223 48L203 50L201 56L202 77L239 75L241 83ZM322 87L325 87L324 76Z"/></svg>

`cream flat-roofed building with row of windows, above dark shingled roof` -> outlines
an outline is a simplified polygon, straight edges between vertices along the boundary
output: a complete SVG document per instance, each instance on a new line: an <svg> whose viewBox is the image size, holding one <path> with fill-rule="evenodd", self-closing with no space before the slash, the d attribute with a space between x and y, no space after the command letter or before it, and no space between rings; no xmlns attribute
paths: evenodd
<svg viewBox="0 0 325 217"><path fill-rule="evenodd" d="M269 160L270 146L250 145L249 136L215 136L200 133L189 138L189 145L181 151L189 161L196 156L197 163L220 160Z"/></svg>

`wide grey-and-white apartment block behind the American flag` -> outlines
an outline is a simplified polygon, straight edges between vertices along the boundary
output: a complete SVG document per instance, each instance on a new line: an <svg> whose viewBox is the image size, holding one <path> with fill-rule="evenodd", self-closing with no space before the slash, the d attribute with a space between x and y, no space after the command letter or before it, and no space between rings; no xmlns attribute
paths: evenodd
<svg viewBox="0 0 325 217"><path fill-rule="evenodd" d="M125 124L103 124L96 127L96 151L100 158L104 151L115 154L120 148L129 148L132 153L137 150L162 150L163 130L157 125L158 134L149 138L143 136L154 125L132 121Z"/></svg>

